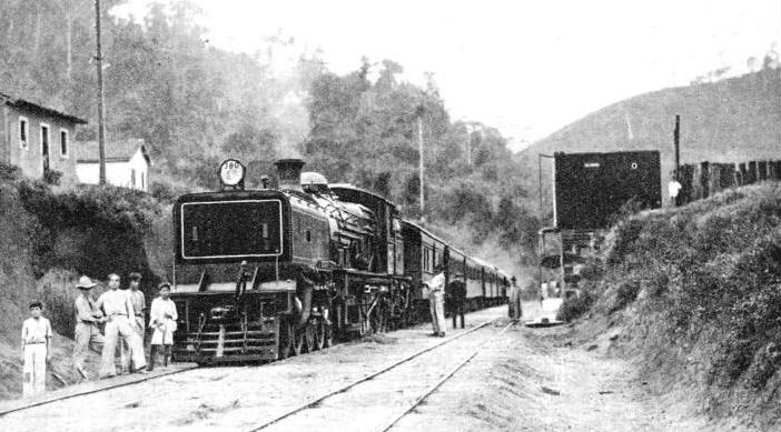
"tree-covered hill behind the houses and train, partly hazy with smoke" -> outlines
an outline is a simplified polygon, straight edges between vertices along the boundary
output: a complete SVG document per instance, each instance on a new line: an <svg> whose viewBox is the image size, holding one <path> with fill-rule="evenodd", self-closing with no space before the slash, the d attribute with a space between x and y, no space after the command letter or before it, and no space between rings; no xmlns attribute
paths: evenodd
<svg viewBox="0 0 781 432"><path fill-rule="evenodd" d="M226 51L209 43L186 1L113 17L123 2L102 1L108 145L146 141L156 195L216 188L215 169L228 157L248 164L248 187L273 174L277 158L300 157L332 182L383 193L432 229L449 227L441 234L467 251L503 250L505 268L532 260L538 224L524 211L524 170L498 131L451 121L434 82L409 84L389 60L356 59L354 72L337 74L320 52L280 34L260 40L255 54ZM90 119L78 140L97 131L93 13L91 0L0 2L2 90ZM280 71L290 57L294 67Z"/></svg>

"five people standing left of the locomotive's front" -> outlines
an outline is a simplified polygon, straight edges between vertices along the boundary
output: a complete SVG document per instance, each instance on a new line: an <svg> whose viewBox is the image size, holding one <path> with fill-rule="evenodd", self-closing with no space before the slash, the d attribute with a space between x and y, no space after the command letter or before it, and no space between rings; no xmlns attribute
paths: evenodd
<svg viewBox="0 0 781 432"><path fill-rule="evenodd" d="M116 352L120 352L121 372L148 373L155 368L158 353L168 365L174 344L178 314L170 300L170 284L160 283L159 297L151 302L148 328L151 329L149 362L144 351L147 329L147 303L139 289L141 274L130 273L127 290L120 290L121 279L111 273L108 290L95 299L98 284L82 275L76 288L81 292L75 302L76 329L73 366L87 378L85 360L90 349L101 352L100 378L117 375ZM30 318L22 324L23 395L40 394L46 390L46 363L50 359L51 324L42 317L40 301L30 303ZM102 332L101 332L102 326ZM102 345L102 348L101 348Z"/></svg>

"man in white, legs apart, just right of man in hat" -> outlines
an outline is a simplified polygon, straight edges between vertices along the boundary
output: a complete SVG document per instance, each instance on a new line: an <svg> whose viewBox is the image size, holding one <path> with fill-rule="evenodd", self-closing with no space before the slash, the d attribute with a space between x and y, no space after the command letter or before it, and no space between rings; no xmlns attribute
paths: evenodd
<svg viewBox="0 0 781 432"><path fill-rule="evenodd" d="M130 318L135 317L132 304L130 304L127 293L119 290L119 280L118 274L109 274L109 290L100 295L96 304L98 309L102 309L103 314L108 319L106 322L106 343L103 343L100 363L101 378L110 378L117 374L115 352L120 336L130 349L131 371L147 372L144 343L130 325Z"/></svg>

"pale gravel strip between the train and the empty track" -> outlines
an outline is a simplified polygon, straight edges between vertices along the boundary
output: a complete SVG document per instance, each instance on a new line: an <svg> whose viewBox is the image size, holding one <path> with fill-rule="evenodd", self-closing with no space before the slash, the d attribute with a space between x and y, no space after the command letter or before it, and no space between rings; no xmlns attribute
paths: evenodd
<svg viewBox="0 0 781 432"><path fill-rule="evenodd" d="M503 307L472 313L467 330L503 315ZM197 369L11 413L0 430L247 430L442 341L429 332L421 325L263 366Z"/></svg>

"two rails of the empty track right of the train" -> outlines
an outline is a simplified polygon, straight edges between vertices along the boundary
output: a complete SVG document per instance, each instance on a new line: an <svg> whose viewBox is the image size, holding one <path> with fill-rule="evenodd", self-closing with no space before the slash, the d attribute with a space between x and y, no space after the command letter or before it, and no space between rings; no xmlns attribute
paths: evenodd
<svg viewBox="0 0 781 432"><path fill-rule="evenodd" d="M295 415L297 415L297 414L306 415L306 413L307 413L308 410L318 409L318 408L322 406L326 401L328 401L328 400L330 400L330 399L333 399L333 398L335 398L335 396L346 394L346 393L348 393L348 392L350 392L350 391L356 391L356 389L358 389L362 384L366 384L366 383L368 383L368 382L373 382L375 379L380 378L380 376L387 374L387 373L390 372L390 371L397 370L398 368L401 368L401 366L403 366L403 365L407 365L407 364L409 364L411 362L413 362L414 360L419 359L421 356L423 356L423 355L425 355L425 354L427 354L427 353L432 353L433 351L435 351L436 349L438 349L438 348L441 348L441 346L447 345L447 344L454 342L454 341L457 340L457 339L461 339L461 338L464 338L464 336L466 336L466 335L468 335L468 334L472 334L472 333L474 333L474 332L476 332L476 331L478 331L478 330L481 330L481 329L484 329L484 328L486 328L486 326L488 326L488 325L491 325L491 324L493 324L493 323L495 323L495 322L497 322L497 321L498 321L498 319L493 319L493 320L486 321L486 322L484 322L484 323L482 323L482 324L480 324L480 325L477 325L477 326L475 326L475 328L473 328L473 329L469 329L468 331L466 331L466 332L464 332L464 333L458 334L457 336L443 340L443 341L439 342L439 343L436 343L436 344L434 344L434 345L432 345L432 346L428 346L428 348L426 348L426 349L424 349L424 350L421 350L421 351L418 351L418 352L416 352L416 353L414 353L414 354L412 354L412 355L408 355L408 356L406 356L406 358L404 358L404 359L401 359L401 360L398 360L398 361L396 361L396 362L394 362L394 363L392 363L392 364L388 364L388 365L386 365L385 368L380 369L379 371L376 371L376 372L370 373L370 374L368 374L368 375L365 375L365 376L363 376L363 378L360 378L360 379L358 379L358 380L355 380L355 381L353 381L353 382L349 382L349 383L347 383L347 384L345 384L345 385L343 385L343 386L339 386L338 389L330 390L330 391L326 392L325 394L322 394L320 396L317 396L317 398L315 398L315 399L313 399L313 400L309 400L309 401L307 401L307 402L305 402L305 403L301 403L301 404L299 404L299 405L297 405L297 406L295 406L295 408L293 408L293 409L286 411L285 413L283 413L283 414L280 414L280 415L277 415L276 418L264 422L264 423L260 424L260 425L254 426L254 428L250 429L248 432L257 432L257 431L263 431L263 430L269 430L269 429L273 429L274 426L281 425L281 422L285 422L286 420L291 419L293 416L295 416ZM459 371L462 368L464 368L468 362L471 362L475 356L477 356L477 354L481 353L481 351L482 351L482 349L483 349L483 346L484 346L485 344L487 344L488 342L495 340L497 336L500 336L501 334L503 334L503 333L504 333L507 329L510 329L512 325L513 325L513 323L507 324L500 333L495 334L493 338L488 338L488 339L486 339L486 340L484 340L484 341L482 341L482 342L476 343L474 346L471 346L469 350L468 350L467 355L462 356L462 359L458 360L458 362L457 362L454 366L452 366L451 369L448 369L448 371L447 371L445 374L441 375L432 385L428 385L427 388L425 388L425 390L424 390L423 392L419 392L419 393L414 398L414 400L413 400L412 403L408 403L408 404L406 404L403 409L395 411L394 414L393 414L392 416L389 416L388 420L387 420L385 423L383 423L382 426L380 426L379 429L377 429L377 431L385 432L385 431L388 431L389 429L392 429L394 425L396 425L396 424L398 423L399 420L402 420L404 416L406 416L406 415L407 415L409 412L412 412L415 408L417 408L418 405L421 405L421 403L423 403L423 402L426 400L426 398L428 398L432 393L434 393L439 386L442 386L442 384L444 384L444 383L445 383L447 380L449 380L456 372L458 372L458 371ZM388 390L388 391L390 391L390 390ZM398 390L398 391L401 391L401 390ZM344 410L344 409L349 409L349 408L348 408L348 406L342 406L340 409ZM283 426L283 428L280 428L280 429L287 430L287 429L290 429L290 426L289 426L289 425L288 425L288 426ZM294 429L298 429L298 428L294 428ZM327 426L326 426L326 430L328 430Z"/></svg>

